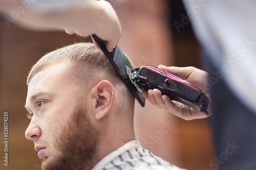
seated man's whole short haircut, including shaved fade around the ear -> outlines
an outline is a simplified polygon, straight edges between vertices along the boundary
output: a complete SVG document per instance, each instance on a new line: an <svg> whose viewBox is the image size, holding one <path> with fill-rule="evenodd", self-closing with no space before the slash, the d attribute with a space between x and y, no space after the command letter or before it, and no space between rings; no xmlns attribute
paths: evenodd
<svg viewBox="0 0 256 170"><path fill-rule="evenodd" d="M91 82L97 83L101 80L108 80L114 86L118 86L118 90L120 91L117 91L117 93L120 93L120 95L123 96L129 95L126 100L132 100L132 103L134 104L134 97L129 89L127 89L122 82L114 67L104 56L102 51L96 48L93 43L72 44L59 48L58 50L41 57L31 68L27 79L27 85L29 85L31 79L38 72L62 63L68 63L70 71L74 76L74 80L79 86L88 87L87 84Z"/></svg>

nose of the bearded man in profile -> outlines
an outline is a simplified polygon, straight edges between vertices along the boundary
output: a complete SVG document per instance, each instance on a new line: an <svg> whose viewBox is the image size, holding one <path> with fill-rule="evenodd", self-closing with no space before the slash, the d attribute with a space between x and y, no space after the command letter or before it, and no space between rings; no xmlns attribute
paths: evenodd
<svg viewBox="0 0 256 170"><path fill-rule="evenodd" d="M25 132L25 136L29 140L36 142L41 136L41 129L33 122L33 118Z"/></svg>

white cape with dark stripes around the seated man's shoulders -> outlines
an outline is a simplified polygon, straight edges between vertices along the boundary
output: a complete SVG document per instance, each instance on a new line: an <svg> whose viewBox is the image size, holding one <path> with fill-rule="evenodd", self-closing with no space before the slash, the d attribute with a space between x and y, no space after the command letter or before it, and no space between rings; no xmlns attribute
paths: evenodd
<svg viewBox="0 0 256 170"><path fill-rule="evenodd" d="M141 147L138 140L132 140L124 144L118 150L112 152L108 156L99 161L92 170L178 170L181 169L170 164L166 160L155 156L148 150Z"/></svg>

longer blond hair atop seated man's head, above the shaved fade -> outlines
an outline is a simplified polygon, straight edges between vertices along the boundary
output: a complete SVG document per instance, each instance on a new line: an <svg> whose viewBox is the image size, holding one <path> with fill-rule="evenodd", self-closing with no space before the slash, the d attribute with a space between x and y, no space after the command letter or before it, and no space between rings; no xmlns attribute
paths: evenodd
<svg viewBox="0 0 256 170"><path fill-rule="evenodd" d="M102 74L105 73L106 75L119 78L108 59L93 43L76 43L59 48L58 50L41 57L31 68L27 79L27 85L41 70L65 62L71 63L78 68L79 71L83 71L83 69L91 69L96 73L98 70L101 71Z"/></svg>

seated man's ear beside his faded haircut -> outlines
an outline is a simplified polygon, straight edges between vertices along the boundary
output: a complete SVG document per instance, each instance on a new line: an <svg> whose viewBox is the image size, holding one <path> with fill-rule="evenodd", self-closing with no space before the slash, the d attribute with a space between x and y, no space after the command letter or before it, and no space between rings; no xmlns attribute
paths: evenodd
<svg viewBox="0 0 256 170"><path fill-rule="evenodd" d="M110 112L115 98L115 89L112 83L106 80L100 81L92 88L93 109L95 119L100 119Z"/></svg>

